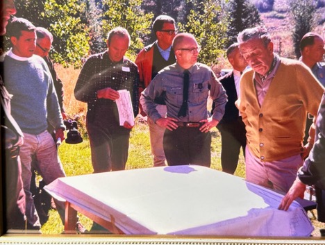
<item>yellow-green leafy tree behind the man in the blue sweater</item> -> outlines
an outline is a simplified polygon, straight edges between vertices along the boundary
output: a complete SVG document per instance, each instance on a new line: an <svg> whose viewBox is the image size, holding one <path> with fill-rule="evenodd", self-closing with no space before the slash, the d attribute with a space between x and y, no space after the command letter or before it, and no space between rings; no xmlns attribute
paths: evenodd
<svg viewBox="0 0 325 245"><path fill-rule="evenodd" d="M17 17L53 34L51 58L63 65L81 66L88 55L88 27L81 21L85 4L78 0L16 0Z"/></svg>

